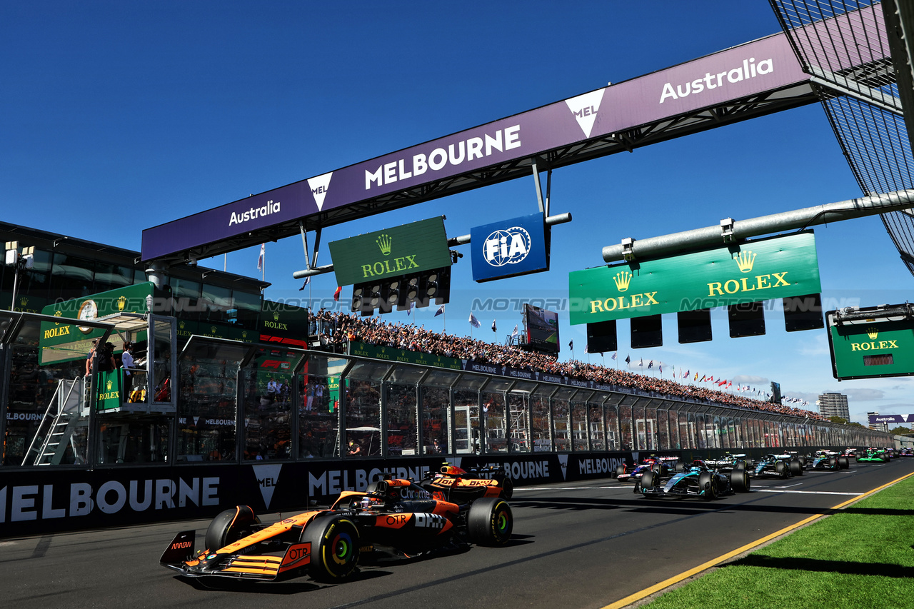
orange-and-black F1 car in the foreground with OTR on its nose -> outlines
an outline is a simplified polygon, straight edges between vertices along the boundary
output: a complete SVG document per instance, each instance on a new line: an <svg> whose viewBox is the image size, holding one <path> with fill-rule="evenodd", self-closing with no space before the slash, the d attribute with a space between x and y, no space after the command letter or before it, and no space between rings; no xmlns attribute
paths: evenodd
<svg viewBox="0 0 914 609"><path fill-rule="evenodd" d="M331 508L269 526L247 506L227 509L209 525L204 550L194 551L196 531L186 530L159 561L186 577L275 580L305 572L317 581L339 582L368 556L414 558L469 542L504 546L513 528L504 499L458 505L432 498L410 480L385 479L364 493L345 491Z"/></svg>

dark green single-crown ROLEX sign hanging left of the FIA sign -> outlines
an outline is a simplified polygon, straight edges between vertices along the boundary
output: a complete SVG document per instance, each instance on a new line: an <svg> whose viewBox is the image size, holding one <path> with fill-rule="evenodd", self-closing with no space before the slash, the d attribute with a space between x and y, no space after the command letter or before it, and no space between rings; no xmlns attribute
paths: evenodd
<svg viewBox="0 0 914 609"><path fill-rule="evenodd" d="M330 242L337 285L451 266L443 217Z"/></svg>

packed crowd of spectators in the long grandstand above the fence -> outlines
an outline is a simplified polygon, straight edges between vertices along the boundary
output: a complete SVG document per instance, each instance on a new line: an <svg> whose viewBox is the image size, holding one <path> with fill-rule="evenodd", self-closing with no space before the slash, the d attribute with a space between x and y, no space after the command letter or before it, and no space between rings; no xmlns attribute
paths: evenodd
<svg viewBox="0 0 914 609"><path fill-rule="evenodd" d="M378 316L362 317L321 309L312 314L312 321L321 341L321 347L330 351L344 352L349 342L360 342L448 358L472 359L480 364L509 366L515 369L593 380L601 384L639 390L658 396L669 396L688 401L707 401L754 411L778 412L818 421L825 420L818 412L757 400L737 393L687 385L673 379L662 379L628 370L606 368L577 359L558 361L554 356L528 351L515 345L497 345L472 337L433 332L415 324L404 324L399 321L387 322Z"/></svg>

